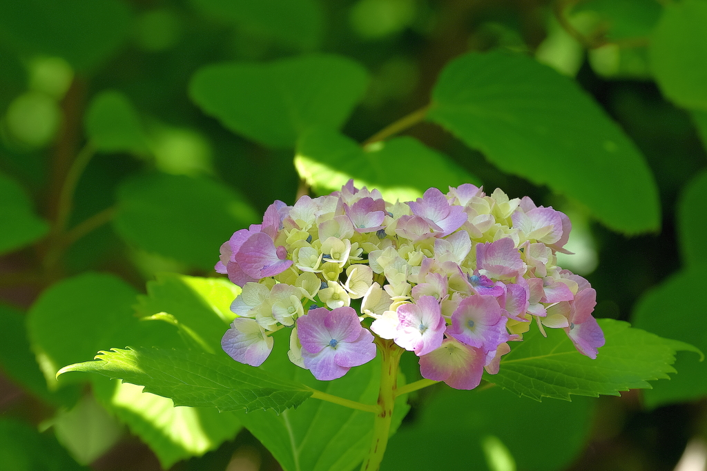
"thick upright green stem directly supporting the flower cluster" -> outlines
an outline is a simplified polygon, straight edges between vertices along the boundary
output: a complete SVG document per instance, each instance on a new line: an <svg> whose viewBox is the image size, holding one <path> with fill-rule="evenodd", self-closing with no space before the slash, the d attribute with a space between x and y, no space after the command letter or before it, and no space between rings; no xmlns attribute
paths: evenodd
<svg viewBox="0 0 707 471"><path fill-rule="evenodd" d="M378 471L390 436L390 421L395 407L395 388L400 354L403 350L392 340L376 338L376 345L382 356L380 365L380 392L378 393L378 413L373 422L373 441L368 456L361 465L361 471Z"/></svg>

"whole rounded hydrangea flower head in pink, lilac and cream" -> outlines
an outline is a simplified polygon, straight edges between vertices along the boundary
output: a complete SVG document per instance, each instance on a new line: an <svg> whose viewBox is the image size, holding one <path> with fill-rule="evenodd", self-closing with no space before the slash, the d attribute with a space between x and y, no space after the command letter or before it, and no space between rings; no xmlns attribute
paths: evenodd
<svg viewBox="0 0 707 471"><path fill-rule="evenodd" d="M221 246L216 271L243 288L223 350L259 366L271 333L291 328L291 361L331 380L375 357L375 334L414 352L423 377L472 389L534 321L593 359L596 292L556 264L570 229L551 207L472 184L390 203L349 181L276 201Z"/></svg>

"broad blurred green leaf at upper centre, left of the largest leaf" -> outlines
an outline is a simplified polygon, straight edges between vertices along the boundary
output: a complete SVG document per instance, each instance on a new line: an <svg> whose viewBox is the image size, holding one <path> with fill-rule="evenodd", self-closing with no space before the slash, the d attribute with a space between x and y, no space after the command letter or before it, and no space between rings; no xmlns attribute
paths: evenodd
<svg viewBox="0 0 707 471"><path fill-rule="evenodd" d="M201 68L189 95L231 131L271 147L293 147L310 128L339 129L361 100L368 73L332 54L269 64Z"/></svg>

